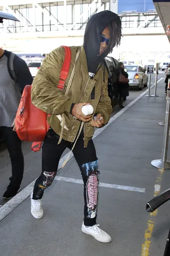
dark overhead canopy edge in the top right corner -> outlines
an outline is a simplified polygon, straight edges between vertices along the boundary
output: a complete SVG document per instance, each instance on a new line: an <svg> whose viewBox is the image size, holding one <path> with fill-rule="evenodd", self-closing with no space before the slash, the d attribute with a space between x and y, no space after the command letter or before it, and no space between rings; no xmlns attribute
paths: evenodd
<svg viewBox="0 0 170 256"><path fill-rule="evenodd" d="M168 25L170 25L170 14L169 14L170 1L169 0L153 0L153 2L166 33L166 28ZM170 35L167 35L167 37L170 42Z"/></svg>

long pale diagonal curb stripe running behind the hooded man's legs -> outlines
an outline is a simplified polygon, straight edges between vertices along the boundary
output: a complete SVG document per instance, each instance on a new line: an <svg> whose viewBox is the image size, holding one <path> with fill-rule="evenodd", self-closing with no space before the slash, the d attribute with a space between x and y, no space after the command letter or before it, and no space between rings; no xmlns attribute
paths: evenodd
<svg viewBox="0 0 170 256"><path fill-rule="evenodd" d="M160 78L158 80L157 83L159 83L161 80L163 79ZM154 84L155 85L155 84ZM151 86L154 87L154 85ZM103 128L100 128L98 130L95 131L94 133L94 137L92 138L93 140L101 133L103 132L110 124L112 124L118 117L120 117L126 110L128 110L132 105L134 105L135 102L137 102L138 100L140 100L143 95L145 95L147 92L149 91L149 89L147 89L145 92L141 93L136 99L134 99L132 102L130 102L125 108L123 108L122 110L120 110L116 115L114 115L108 122L107 125L105 125ZM67 156L69 155L69 153L67 153L65 156L63 156L60 159L60 163L58 165L58 171L61 170L61 166L64 163L65 159L67 158ZM69 157L69 161L73 158L73 154L70 155ZM27 187L25 187L23 190L21 190L16 196L14 196L10 201L8 201L6 204L4 204L1 207L1 211L0 211L0 221L3 220L8 214L10 214L13 210L15 210L16 207L18 207L23 201L25 201L25 199L27 199L31 193L32 193L32 189L34 186L36 180L32 181ZM115 185L115 186L120 186L120 185ZM126 186L124 186L126 187Z"/></svg>

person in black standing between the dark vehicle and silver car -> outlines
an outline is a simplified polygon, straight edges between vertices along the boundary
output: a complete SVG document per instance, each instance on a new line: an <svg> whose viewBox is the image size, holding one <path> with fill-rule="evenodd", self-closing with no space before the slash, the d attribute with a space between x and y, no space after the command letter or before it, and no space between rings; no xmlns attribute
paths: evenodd
<svg viewBox="0 0 170 256"><path fill-rule="evenodd" d="M118 62L116 67L117 77L122 74L126 78L128 78L128 73L124 71L123 62ZM120 83L118 82L118 90L119 90L119 107L124 108L123 101L126 97L129 96L129 83Z"/></svg>

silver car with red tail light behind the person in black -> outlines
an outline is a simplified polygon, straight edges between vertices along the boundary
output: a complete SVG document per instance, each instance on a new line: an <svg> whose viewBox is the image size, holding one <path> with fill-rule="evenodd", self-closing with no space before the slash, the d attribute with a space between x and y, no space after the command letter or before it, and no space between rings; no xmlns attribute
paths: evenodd
<svg viewBox="0 0 170 256"><path fill-rule="evenodd" d="M148 76L145 74L142 67L138 65L124 65L124 68L129 75L130 87L138 87L139 90L142 90L143 87L147 87Z"/></svg>

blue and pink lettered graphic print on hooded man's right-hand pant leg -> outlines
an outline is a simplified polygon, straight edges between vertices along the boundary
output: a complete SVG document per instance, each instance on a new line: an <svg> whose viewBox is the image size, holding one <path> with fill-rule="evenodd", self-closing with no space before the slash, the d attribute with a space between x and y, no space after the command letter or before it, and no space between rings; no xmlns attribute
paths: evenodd
<svg viewBox="0 0 170 256"><path fill-rule="evenodd" d="M98 160L83 164L81 171L88 177L86 183L86 200L88 215L87 218L95 218L97 214L97 199L98 199Z"/></svg>

